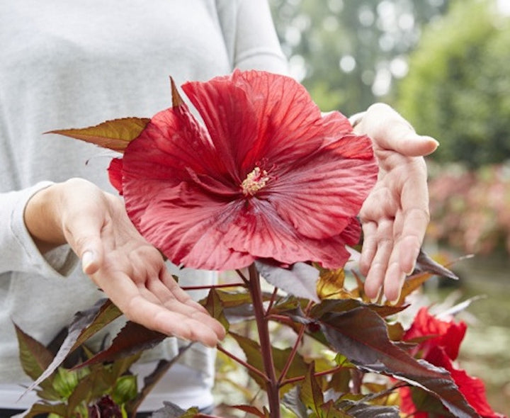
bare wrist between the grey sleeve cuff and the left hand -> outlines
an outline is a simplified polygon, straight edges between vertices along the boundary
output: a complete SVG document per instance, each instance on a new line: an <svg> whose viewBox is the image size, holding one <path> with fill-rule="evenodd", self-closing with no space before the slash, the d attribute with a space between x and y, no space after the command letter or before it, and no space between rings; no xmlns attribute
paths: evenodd
<svg viewBox="0 0 510 418"><path fill-rule="evenodd" d="M35 193L27 202L23 219L41 253L66 243L60 222L60 183Z"/></svg>

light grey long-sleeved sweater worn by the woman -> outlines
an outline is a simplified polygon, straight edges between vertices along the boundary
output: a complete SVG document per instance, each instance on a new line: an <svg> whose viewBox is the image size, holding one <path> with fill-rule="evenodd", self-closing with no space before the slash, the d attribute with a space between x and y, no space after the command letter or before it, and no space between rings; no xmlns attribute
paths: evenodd
<svg viewBox="0 0 510 418"><path fill-rule="evenodd" d="M110 159L101 149L42 132L151 117L171 104L170 75L179 85L234 67L285 72L286 64L261 0L5 0L2 6L0 407L23 407L30 398L16 403L17 395L6 395L27 382L12 321L47 343L101 296L67 247L38 252L23 223L26 202L48 182L73 176L112 190ZM184 285L214 280L210 272L184 276ZM175 349L167 339L152 358ZM198 346L183 360L209 377L212 361Z"/></svg>

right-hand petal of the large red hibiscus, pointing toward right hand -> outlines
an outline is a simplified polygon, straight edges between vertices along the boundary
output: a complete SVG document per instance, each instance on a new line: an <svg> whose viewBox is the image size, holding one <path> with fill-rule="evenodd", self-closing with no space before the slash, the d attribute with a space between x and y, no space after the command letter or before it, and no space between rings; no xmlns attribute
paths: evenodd
<svg viewBox="0 0 510 418"><path fill-rule="evenodd" d="M378 169L368 137L339 140L334 145L298 160L281 174L277 167L277 180L268 182L261 193L261 198L267 198L280 216L306 237L322 239L342 232L358 215L376 181ZM351 146L365 152L345 159L344 150Z"/></svg>

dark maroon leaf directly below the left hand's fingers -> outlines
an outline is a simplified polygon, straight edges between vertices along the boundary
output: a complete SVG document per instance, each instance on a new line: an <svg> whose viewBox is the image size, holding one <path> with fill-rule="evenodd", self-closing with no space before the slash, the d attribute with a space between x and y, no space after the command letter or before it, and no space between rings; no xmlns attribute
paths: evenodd
<svg viewBox="0 0 510 418"><path fill-rule="evenodd" d="M159 344L166 337L162 332L153 331L136 322L128 321L125 326L120 329L119 333L115 336L111 346L104 351L89 358L77 365L75 368L91 366L97 363L105 363L107 361L115 361L120 358L132 356L133 354L140 353L147 349Z"/></svg>

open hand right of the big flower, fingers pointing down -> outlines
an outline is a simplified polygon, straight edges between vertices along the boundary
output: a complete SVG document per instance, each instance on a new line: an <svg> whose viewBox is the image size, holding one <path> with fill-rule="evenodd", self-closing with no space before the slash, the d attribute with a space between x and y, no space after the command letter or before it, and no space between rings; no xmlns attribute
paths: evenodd
<svg viewBox="0 0 510 418"><path fill-rule="evenodd" d="M365 293L373 300L384 290L399 299L404 278L412 273L429 223L427 171L422 156L438 147L432 137L417 135L390 106L368 108L355 132L373 140L379 175L363 203L363 250L360 269Z"/></svg>

